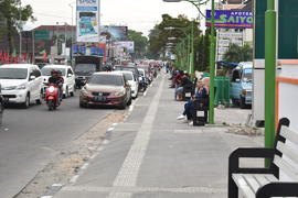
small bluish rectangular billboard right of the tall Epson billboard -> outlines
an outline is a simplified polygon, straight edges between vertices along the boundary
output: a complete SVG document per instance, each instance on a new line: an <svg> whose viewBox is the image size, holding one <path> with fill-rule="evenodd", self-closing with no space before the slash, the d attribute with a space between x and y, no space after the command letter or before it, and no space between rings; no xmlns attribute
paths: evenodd
<svg viewBox="0 0 298 198"><path fill-rule="evenodd" d="M107 40L126 40L127 26L105 25L100 28L100 35L106 35Z"/></svg>

